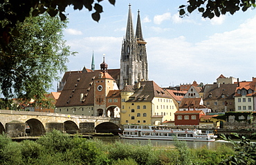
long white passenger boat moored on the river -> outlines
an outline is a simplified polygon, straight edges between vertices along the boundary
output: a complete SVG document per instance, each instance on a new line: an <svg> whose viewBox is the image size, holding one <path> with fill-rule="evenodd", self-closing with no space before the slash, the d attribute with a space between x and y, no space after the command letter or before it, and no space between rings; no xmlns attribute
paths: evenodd
<svg viewBox="0 0 256 165"><path fill-rule="evenodd" d="M156 140L184 140L199 142L214 142L217 135L212 130L171 129L166 125L124 125L124 130L118 133L124 139L156 139Z"/></svg>

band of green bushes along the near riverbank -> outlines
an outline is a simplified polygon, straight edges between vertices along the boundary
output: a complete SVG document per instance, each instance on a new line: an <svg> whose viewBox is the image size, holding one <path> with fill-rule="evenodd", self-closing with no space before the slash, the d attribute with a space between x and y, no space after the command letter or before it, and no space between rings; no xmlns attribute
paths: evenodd
<svg viewBox="0 0 256 165"><path fill-rule="evenodd" d="M6 135L0 135L0 164L255 164L255 148L250 144L220 144L216 150L188 148L181 141L176 141L174 148L153 147L150 143L104 144L54 130L37 141L12 142ZM236 162L240 159L241 162Z"/></svg>

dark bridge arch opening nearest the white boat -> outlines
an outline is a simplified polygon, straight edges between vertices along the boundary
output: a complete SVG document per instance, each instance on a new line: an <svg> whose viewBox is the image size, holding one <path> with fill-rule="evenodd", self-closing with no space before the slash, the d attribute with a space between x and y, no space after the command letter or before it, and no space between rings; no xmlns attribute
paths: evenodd
<svg viewBox="0 0 256 165"><path fill-rule="evenodd" d="M103 122L98 124L98 126L95 127L95 130L97 133L113 133L114 135L120 132L118 125L112 122Z"/></svg>

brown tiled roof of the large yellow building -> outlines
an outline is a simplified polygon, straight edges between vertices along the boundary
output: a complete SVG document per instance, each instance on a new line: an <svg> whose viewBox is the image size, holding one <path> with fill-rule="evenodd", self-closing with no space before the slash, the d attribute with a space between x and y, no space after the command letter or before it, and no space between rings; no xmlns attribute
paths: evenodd
<svg viewBox="0 0 256 165"><path fill-rule="evenodd" d="M154 97L172 98L154 81L139 81L134 85L134 94L127 101L152 101Z"/></svg>

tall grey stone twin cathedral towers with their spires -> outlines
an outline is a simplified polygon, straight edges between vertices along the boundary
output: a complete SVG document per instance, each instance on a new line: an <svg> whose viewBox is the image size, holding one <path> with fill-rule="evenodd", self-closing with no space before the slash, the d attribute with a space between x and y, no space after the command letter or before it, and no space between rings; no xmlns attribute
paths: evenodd
<svg viewBox="0 0 256 165"><path fill-rule="evenodd" d="M140 11L136 24L136 35L131 17L131 5L129 5L127 29L125 38L122 41L120 59L120 89L127 85L134 85L138 81L148 80L147 51L143 39L143 32L140 23Z"/></svg>

